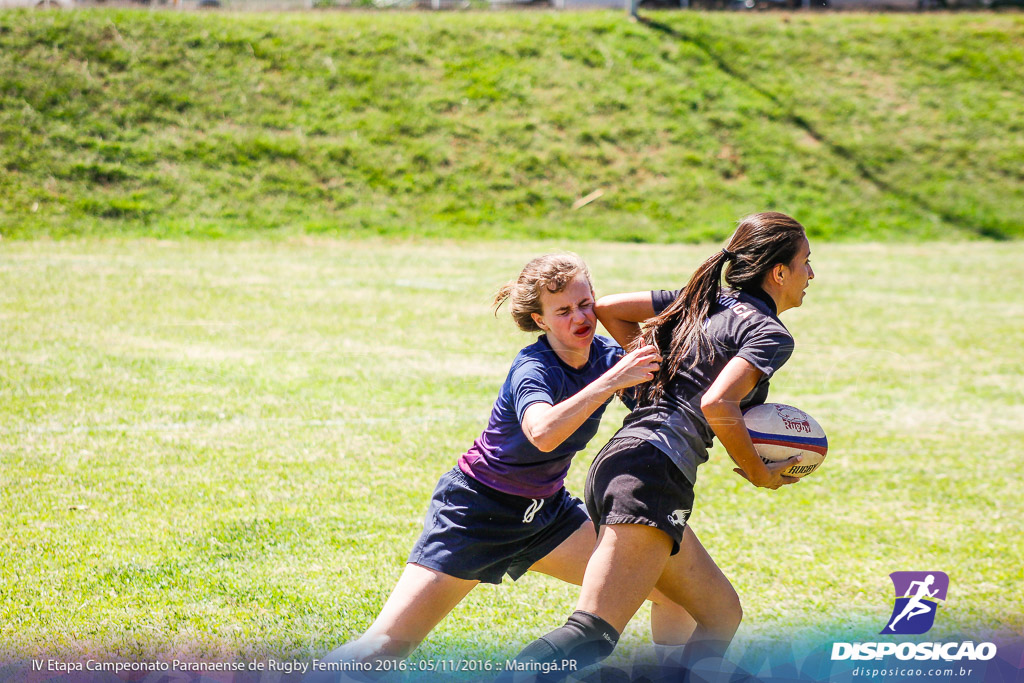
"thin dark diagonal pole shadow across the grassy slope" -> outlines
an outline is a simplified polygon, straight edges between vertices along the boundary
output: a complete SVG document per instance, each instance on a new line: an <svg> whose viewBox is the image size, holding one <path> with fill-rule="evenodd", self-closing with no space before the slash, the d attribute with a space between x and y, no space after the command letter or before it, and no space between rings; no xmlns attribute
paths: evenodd
<svg viewBox="0 0 1024 683"><path fill-rule="evenodd" d="M701 52L703 52L708 56L708 58L711 59L718 67L718 69L723 74L726 74L730 78L733 78L733 79L739 81L740 83L742 83L743 85L745 85L751 90L754 90L759 95L761 95L761 96L765 97L766 99L770 100L772 103L774 103L778 108L779 112L782 113L781 117L780 117L782 120L787 121L792 125L800 128L804 132L806 132L808 135L810 135L812 138L814 138L817 142L819 142L822 145L824 145L825 147L827 147L828 151L831 152L834 155L836 155L837 157L840 157L841 159L844 159L845 161L847 161L850 164L852 164L853 167L857 170L857 173L859 173L860 176L862 178L864 178L864 180L866 180L867 182L870 182L871 184L873 184L876 187L878 187L882 191L888 193L888 194L893 195L895 197L899 197L902 200L910 202L914 206L916 206L919 209L921 209L922 211L935 214L935 215L939 216L945 222L947 222L947 223L949 223L951 225L955 225L957 228L964 230L965 232L973 233L973 234L976 234L976 236L981 237L981 238L987 238L989 240L1006 241L1006 240L1011 240L1012 239L1012 237L1010 234L1008 234L1004 229L1001 229L1001 228L999 228L997 226L994 226L994 225L976 225L976 224L972 223L971 221L969 221L964 216L957 215L957 214L955 214L955 213L953 213L951 211L947 211L946 209L942 209L941 207L933 206L924 197L921 197L920 195L916 195L914 193L902 189L900 187L896 187L895 185L893 185L891 182L889 182L885 178L882 178L881 176L879 176L878 173L876 173L870 168L868 168L864 164L864 162L862 162L860 159L858 159L857 156L856 156L856 154L853 153L853 151L851 151L848 147L843 146L839 142L834 142L833 140L829 140L821 132L819 132L810 121L808 121L804 117L800 116L799 114L796 114L795 112L793 112L793 110L790 109L777 96L775 96L771 92L765 90L760 85L758 85L757 83L755 83L754 81L752 81L750 78L748 78L745 75L743 75L740 72L738 72L735 69L733 69L729 65L729 62L727 62L721 56L719 56L718 54L716 54L714 52L714 50L712 50L711 47L709 47L698 37L693 36L693 35L688 35L688 34L683 33L683 32L681 32L681 31L679 31L679 30L677 30L677 29L675 29L675 28L673 28L673 27L671 27L671 26L669 26L667 24L662 24L660 22L655 22L655 20L647 18L645 16L639 16L638 15L637 16L637 22L641 26L645 26L645 27L647 27L649 29L653 29L654 31L658 31L658 32L660 32L663 34L666 34L667 36L675 38L676 40L681 40L681 41L690 43L691 45L695 46L697 49L699 49Z"/></svg>

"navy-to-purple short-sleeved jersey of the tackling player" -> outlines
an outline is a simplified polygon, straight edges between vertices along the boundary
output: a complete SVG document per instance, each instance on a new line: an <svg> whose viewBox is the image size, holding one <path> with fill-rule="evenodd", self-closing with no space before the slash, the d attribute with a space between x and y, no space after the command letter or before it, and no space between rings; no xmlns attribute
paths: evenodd
<svg viewBox="0 0 1024 683"><path fill-rule="evenodd" d="M514 496L548 498L558 493L572 457L597 433L608 401L550 453L529 442L522 431L522 416L534 403L555 405L569 398L607 372L622 355L623 349L614 341L595 336L587 365L578 370L562 362L547 337L541 336L512 361L487 428L459 459L459 469Z"/></svg>

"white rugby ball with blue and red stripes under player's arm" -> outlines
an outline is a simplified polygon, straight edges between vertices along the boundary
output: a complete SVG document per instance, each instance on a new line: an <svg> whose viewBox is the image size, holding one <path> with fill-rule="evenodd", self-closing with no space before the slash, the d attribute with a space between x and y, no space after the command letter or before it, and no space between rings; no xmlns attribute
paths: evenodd
<svg viewBox="0 0 1024 683"><path fill-rule="evenodd" d="M828 451L828 439L814 418L793 405L762 403L743 412L743 422L761 460L778 462L802 455L797 465L782 474L807 476L818 469Z"/></svg>

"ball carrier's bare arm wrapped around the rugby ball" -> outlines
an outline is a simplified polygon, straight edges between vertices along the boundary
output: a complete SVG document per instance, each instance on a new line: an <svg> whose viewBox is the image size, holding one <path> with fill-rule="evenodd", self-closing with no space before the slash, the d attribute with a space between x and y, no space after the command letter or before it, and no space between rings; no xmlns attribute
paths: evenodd
<svg viewBox="0 0 1024 683"><path fill-rule="evenodd" d="M708 418L708 424L718 436L732 460L739 465L736 470L755 486L778 488L787 483L800 481L797 477L784 476L782 470L800 462L800 456L766 465L754 450L751 434L743 424L743 413L739 401L757 386L761 371L750 361L734 357L700 399L700 410Z"/></svg>

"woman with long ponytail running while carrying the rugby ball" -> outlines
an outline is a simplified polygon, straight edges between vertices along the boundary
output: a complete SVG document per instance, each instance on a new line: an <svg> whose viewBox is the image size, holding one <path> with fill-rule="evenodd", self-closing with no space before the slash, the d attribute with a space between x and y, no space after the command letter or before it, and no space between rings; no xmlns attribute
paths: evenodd
<svg viewBox="0 0 1024 683"><path fill-rule="evenodd" d="M653 344L665 361L653 381L637 387L637 407L591 465L585 493L598 544L577 611L527 645L521 663L536 669L574 659L585 667L607 656L655 587L697 622L684 666L724 654L740 612L714 561L686 547L693 484L715 436L738 465L736 472L755 486L774 489L797 481L781 472L800 457L766 465L742 411L765 401L768 380L793 353L793 337L778 315L803 302L814 278L809 257L800 223L780 213L755 214L682 290L598 302L598 318L620 343ZM716 616L721 605L732 618Z"/></svg>

